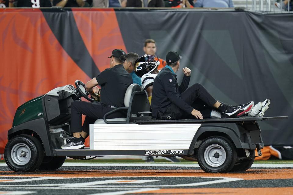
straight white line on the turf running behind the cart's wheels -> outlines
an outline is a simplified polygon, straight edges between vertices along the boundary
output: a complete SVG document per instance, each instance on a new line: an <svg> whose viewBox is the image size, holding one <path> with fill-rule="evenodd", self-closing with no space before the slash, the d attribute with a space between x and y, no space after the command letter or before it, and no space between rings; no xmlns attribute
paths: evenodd
<svg viewBox="0 0 293 195"><path fill-rule="evenodd" d="M7 166L0 163L0 166ZM198 164L158 164L158 163L71 163L65 162L63 167L199 167ZM253 164L252 168L293 168L293 164Z"/></svg>

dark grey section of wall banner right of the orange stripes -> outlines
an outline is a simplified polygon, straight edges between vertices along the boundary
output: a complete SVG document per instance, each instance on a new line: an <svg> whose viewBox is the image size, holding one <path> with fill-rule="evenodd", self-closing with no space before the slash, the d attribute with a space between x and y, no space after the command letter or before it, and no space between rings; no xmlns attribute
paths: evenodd
<svg viewBox="0 0 293 195"><path fill-rule="evenodd" d="M259 122L265 145L293 145L293 15L223 11L116 12L128 52L143 55L143 41L157 41L157 56L183 56L201 83L231 105L271 100ZM179 81L183 73L178 73Z"/></svg>

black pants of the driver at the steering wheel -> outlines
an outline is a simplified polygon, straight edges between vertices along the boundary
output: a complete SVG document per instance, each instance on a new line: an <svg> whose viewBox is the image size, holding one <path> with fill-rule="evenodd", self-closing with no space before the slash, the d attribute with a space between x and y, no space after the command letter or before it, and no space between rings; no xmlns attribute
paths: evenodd
<svg viewBox="0 0 293 195"><path fill-rule="evenodd" d="M77 133L83 130L89 133L89 124L97 119L103 119L107 112L114 108L106 107L100 102L73 101L71 102L71 132ZM81 115L85 115L85 121L82 124ZM124 112L114 112L108 115L107 119L126 117Z"/></svg>

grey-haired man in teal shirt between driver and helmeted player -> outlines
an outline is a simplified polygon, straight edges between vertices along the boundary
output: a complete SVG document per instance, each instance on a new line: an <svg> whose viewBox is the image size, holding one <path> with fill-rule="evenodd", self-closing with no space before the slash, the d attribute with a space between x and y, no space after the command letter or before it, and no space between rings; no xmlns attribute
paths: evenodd
<svg viewBox="0 0 293 195"><path fill-rule="evenodd" d="M134 62L139 58L136 53L128 53L126 55L126 60L123 64L125 70L132 76L133 83L139 84L141 86L141 78L134 72Z"/></svg>

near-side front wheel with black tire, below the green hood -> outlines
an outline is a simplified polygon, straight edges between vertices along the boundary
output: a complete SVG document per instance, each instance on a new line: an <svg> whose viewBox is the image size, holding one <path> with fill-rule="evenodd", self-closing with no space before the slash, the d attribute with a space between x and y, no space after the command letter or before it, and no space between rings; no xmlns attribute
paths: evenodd
<svg viewBox="0 0 293 195"><path fill-rule="evenodd" d="M41 165L44 151L37 138L30 135L18 135L8 141L4 156L6 164L13 171L31 172Z"/></svg>

